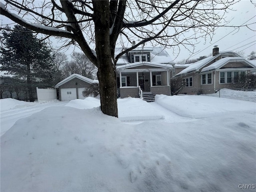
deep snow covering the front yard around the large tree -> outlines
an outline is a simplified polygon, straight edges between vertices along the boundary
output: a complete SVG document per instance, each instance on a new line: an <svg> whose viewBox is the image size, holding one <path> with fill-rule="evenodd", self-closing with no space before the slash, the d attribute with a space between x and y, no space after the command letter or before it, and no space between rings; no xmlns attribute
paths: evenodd
<svg viewBox="0 0 256 192"><path fill-rule="evenodd" d="M2 192L255 191L239 188L256 184L254 102L118 99L119 119L102 114L95 98L63 105L1 136Z"/></svg>

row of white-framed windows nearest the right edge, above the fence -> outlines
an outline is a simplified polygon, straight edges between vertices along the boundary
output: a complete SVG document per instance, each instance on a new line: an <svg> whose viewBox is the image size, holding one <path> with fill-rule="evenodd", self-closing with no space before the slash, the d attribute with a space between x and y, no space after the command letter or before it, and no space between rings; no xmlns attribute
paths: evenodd
<svg viewBox="0 0 256 192"><path fill-rule="evenodd" d="M239 74L244 74L245 71L220 71L219 84L238 82Z"/></svg>

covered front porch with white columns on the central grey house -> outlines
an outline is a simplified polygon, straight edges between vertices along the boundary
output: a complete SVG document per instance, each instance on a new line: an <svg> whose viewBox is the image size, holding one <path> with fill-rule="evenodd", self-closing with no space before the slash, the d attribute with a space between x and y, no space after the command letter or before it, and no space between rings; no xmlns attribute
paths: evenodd
<svg viewBox="0 0 256 192"><path fill-rule="evenodd" d="M169 64L134 63L117 67L117 88L120 98L142 98L142 94L170 95Z"/></svg>

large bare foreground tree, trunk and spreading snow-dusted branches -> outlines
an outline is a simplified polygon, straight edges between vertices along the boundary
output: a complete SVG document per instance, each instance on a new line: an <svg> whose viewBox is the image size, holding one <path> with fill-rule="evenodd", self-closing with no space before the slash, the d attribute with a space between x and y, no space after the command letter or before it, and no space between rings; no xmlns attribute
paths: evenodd
<svg viewBox="0 0 256 192"><path fill-rule="evenodd" d="M237 1L52 0L38 6L28 0L4 2L0 14L35 32L70 39L65 46L80 47L98 68L102 112L118 117L116 62L120 56L145 42L152 46L190 47L193 53L193 41L212 38L216 27L225 26L224 15ZM121 45L138 41L115 55L118 38Z"/></svg>

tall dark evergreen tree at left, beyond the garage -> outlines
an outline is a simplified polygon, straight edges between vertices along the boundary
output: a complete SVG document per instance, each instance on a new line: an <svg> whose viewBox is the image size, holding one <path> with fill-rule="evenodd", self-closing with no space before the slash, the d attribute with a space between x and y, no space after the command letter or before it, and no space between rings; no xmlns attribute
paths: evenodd
<svg viewBox="0 0 256 192"><path fill-rule="evenodd" d="M31 30L15 25L2 32L0 70L15 78L26 80L30 102L34 101L36 86L52 86L53 64L50 49Z"/></svg>

